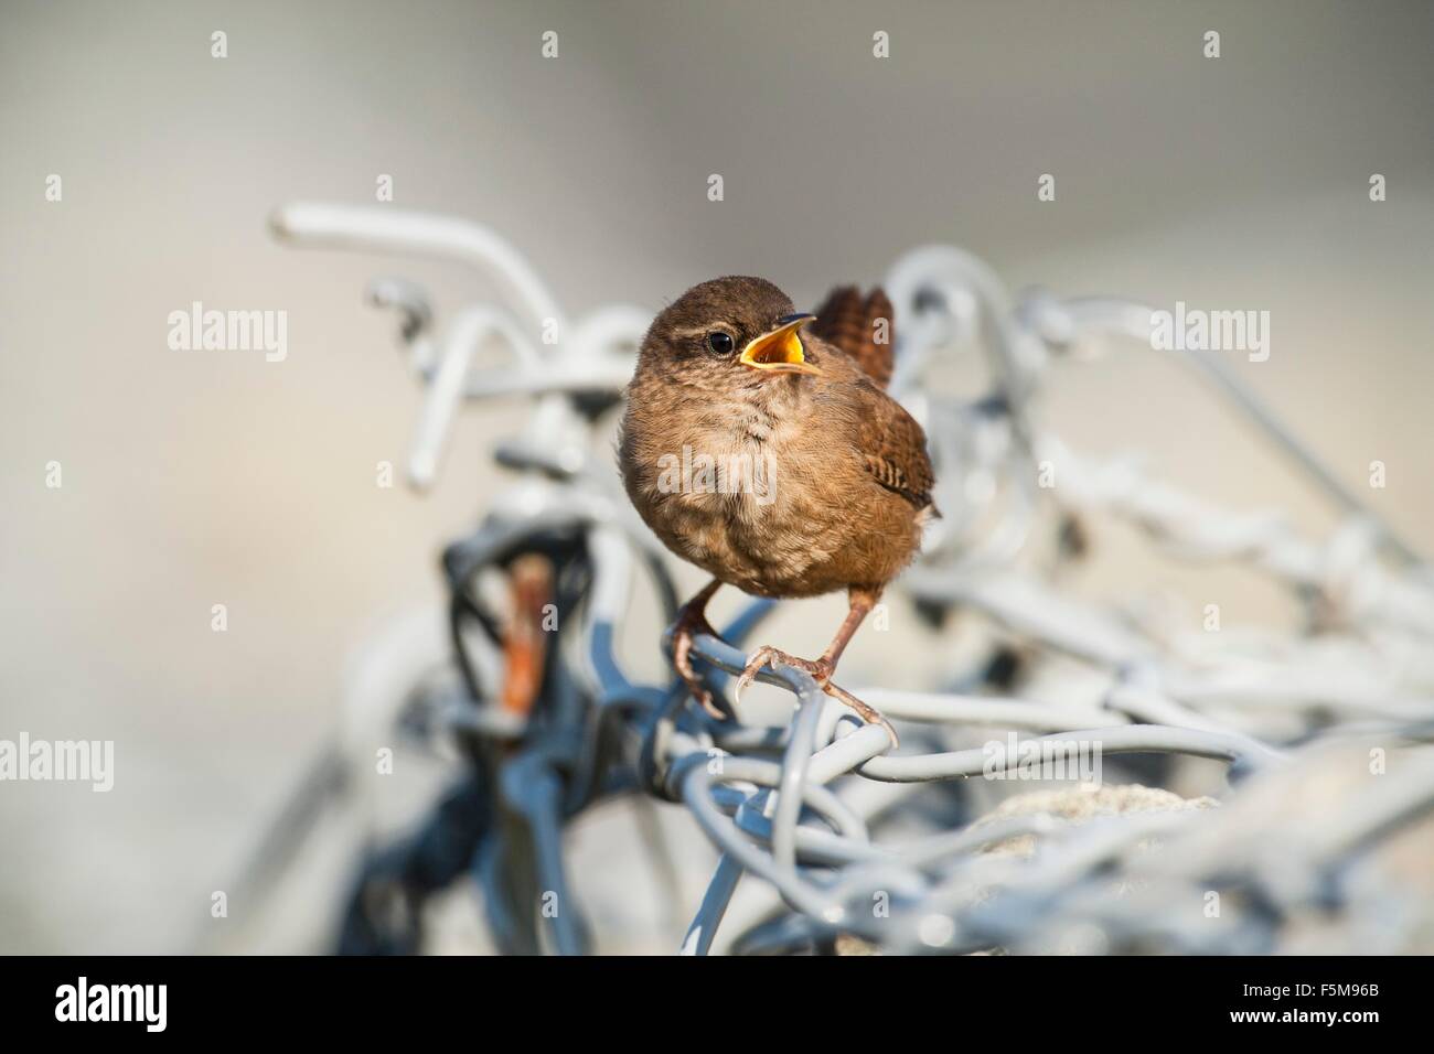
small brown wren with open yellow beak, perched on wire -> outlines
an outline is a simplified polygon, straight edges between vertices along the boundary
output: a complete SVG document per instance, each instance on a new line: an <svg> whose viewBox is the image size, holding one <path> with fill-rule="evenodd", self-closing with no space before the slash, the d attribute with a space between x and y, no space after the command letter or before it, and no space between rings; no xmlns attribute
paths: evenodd
<svg viewBox="0 0 1434 1054"><path fill-rule="evenodd" d="M779 598L847 589L852 612L822 660L763 650L754 663L802 665L880 720L829 684L830 674L882 588L915 556L936 515L934 479L921 426L883 390L892 370L886 297L837 290L823 311L826 320L800 333L803 363L817 373L766 371L739 353L794 314L782 290L731 277L684 293L642 341L619 462L647 525L717 582ZM878 318L885 341L875 338ZM701 457L749 466L751 486L733 486L733 472L726 488L720 476L691 475ZM674 638L674 663L708 706L687 652L693 632L710 631L703 607L714 589L684 608Z"/></svg>

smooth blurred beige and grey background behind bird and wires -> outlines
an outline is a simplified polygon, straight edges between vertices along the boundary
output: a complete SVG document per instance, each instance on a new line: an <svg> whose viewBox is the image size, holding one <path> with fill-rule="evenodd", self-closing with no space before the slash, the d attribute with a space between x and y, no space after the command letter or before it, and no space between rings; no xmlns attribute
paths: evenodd
<svg viewBox="0 0 1434 1054"><path fill-rule="evenodd" d="M0 737L116 743L108 794L0 784L0 951L188 946L333 730L356 648L440 602L437 552L500 485L490 440L522 420L516 402L463 417L430 496L374 486L420 391L364 284L402 272L443 310L485 290L267 229L291 199L373 204L380 174L394 208L495 227L572 314L655 311L728 272L812 305L929 242L1012 287L1268 310L1269 361L1235 367L1434 551L1420 0L4 0L0 20ZM196 300L285 310L287 360L172 351L168 315ZM1212 500L1332 522L1154 353L1067 370L1044 399L1084 450L1139 449ZM1367 490L1375 459L1388 486ZM1183 591L1192 612L1213 591L1229 621L1283 611L1226 571L1097 551L1090 575L1106 595ZM790 608L773 642L819 650L842 602ZM655 675L654 640L624 650ZM901 640L858 637L846 665L919 680L931 657L893 654ZM691 852L708 850L693 836Z"/></svg>

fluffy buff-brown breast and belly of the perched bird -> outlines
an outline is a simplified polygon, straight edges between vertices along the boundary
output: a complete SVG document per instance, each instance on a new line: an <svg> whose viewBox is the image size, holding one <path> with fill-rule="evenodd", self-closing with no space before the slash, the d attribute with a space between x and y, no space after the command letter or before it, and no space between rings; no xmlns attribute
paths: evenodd
<svg viewBox="0 0 1434 1054"><path fill-rule="evenodd" d="M885 585L915 554L921 525L863 459L862 399L807 379L757 384L664 390L663 413L630 409L621 459L634 505L675 554L746 592ZM630 399L644 394L634 386Z"/></svg>

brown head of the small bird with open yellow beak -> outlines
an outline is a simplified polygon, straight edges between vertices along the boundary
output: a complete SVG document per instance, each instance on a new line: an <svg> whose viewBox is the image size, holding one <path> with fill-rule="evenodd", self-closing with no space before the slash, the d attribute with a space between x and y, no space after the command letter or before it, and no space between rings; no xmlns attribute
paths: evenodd
<svg viewBox="0 0 1434 1054"><path fill-rule="evenodd" d="M642 359L687 383L749 384L780 374L819 374L800 330L816 315L764 278L714 278L694 285L652 320Z"/></svg>

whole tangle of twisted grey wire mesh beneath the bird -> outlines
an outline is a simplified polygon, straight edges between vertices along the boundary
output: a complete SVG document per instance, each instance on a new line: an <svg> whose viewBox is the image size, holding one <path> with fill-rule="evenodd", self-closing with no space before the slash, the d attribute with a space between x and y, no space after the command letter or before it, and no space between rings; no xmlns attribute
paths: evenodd
<svg viewBox="0 0 1434 1054"><path fill-rule="evenodd" d="M370 754L344 743L363 744L364 728L419 706L427 733L459 743L499 800L465 812L467 799L456 796L437 813L450 826L427 829L443 835L430 842L452 860L414 879L416 859L432 863L419 837L386 873L410 892L472 873L509 951L592 949L578 911L538 905L575 903L562 827L614 796L635 807L642 796L681 803L720 850L684 954L1368 952L1420 939L1430 949L1428 889L1392 876L1385 848L1434 806L1434 576L1212 356L1183 361L1329 495L1345 515L1331 538L1302 538L1276 515L1213 508L1133 463L1097 463L1045 429L1038 394L1053 364L1110 337L1149 347L1150 308L1045 291L1011 297L981 261L942 247L903 257L886 275L899 340L893 393L928 430L946 512L898 589L932 624L974 612L985 645L985 660L954 671L939 691L858 691L909 723L893 751L885 730L860 724L800 671L761 674L793 695L790 720L771 727L714 723L681 681L638 684L624 673L614 638L635 569L674 609L660 546L592 443L631 376L648 321L641 310L569 324L526 261L476 224L291 205L272 227L300 245L459 260L496 290L498 303L457 313L442 340L422 291L394 280L371 290L376 304L402 313L410 367L429 386L410 482L436 480L459 402L529 396L528 430L498 450L521 479L492 498L472 538L450 546L446 566L459 599L516 551L552 554L581 585L561 632L566 658L549 667L545 708L528 718L503 713L489 690L500 680L498 634L465 657L455 628L466 691L420 688L420 671L442 658L417 637L373 651L354 693L367 700L351 710L358 730L326 756L324 779L300 792L255 863L255 883L315 822L303 802L360 783L351 776ZM490 346L506 359L480 369L478 353ZM928 383L944 350L962 346L987 354L991 387L981 399L951 399ZM1051 472L1058 486L1043 486ZM1136 525L1172 559L1268 575L1302 605L1304 628L1190 634L1080 599L1060 572L1078 558L1071 532L1101 518ZM769 611L750 605L724 631L730 644L698 640L694 654L714 690L741 670L733 645ZM1038 690L1012 697L1017 683ZM1108 759L1129 783L1101 797L1064 782L1040 807L998 807L995 792L1030 776L1031 759L1077 754L1101 767ZM1121 769L1126 756L1137 767ZM1179 784L1183 759L1226 767L1217 807L1130 786ZM661 846L630 866L654 862ZM743 875L760 895L739 909Z"/></svg>

